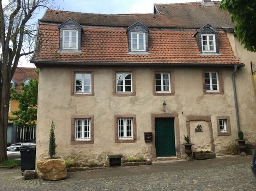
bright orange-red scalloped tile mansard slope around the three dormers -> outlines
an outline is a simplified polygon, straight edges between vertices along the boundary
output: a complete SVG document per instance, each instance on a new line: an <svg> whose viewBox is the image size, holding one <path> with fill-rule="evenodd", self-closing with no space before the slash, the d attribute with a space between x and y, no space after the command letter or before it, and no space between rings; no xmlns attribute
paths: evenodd
<svg viewBox="0 0 256 191"><path fill-rule="evenodd" d="M149 55L128 54L126 30L83 28L81 53L58 53L56 25L40 25L35 61L239 64L225 31L219 31L222 55L200 55L196 31L149 31ZM50 62L49 62L50 63Z"/></svg>

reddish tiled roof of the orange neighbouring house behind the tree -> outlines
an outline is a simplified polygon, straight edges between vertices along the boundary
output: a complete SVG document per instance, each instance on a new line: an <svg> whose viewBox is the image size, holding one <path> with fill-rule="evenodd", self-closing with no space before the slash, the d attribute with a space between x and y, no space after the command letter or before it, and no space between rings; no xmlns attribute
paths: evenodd
<svg viewBox="0 0 256 191"><path fill-rule="evenodd" d="M30 78L30 79L38 79L38 74L35 73L36 68L17 68L15 70L15 73L13 75L13 79L17 82L17 86L15 89L17 92L21 92L20 86L21 83L25 81L25 79Z"/></svg>

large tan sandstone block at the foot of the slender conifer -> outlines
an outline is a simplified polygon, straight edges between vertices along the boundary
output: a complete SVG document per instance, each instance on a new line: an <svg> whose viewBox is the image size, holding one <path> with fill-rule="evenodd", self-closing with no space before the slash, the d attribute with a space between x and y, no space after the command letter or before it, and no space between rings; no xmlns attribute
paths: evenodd
<svg viewBox="0 0 256 191"><path fill-rule="evenodd" d="M36 163L37 174L43 180L62 180L67 177L66 164L63 159L43 159Z"/></svg>

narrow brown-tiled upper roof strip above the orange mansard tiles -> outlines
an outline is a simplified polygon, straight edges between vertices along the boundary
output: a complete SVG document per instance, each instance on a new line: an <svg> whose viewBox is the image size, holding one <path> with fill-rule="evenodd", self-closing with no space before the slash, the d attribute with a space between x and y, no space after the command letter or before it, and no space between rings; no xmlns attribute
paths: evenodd
<svg viewBox="0 0 256 191"><path fill-rule="evenodd" d="M91 13L76 13L68 11L47 10L40 21L64 23L68 19L73 19L81 25L129 27L136 22L140 22L147 27L172 27L177 21L169 19L165 15L159 14L117 14L103 15Z"/></svg>

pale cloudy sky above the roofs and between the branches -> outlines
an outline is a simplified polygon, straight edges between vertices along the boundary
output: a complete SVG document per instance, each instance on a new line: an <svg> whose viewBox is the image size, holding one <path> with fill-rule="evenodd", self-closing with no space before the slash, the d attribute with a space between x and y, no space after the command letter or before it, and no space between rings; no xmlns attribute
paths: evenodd
<svg viewBox="0 0 256 191"><path fill-rule="evenodd" d="M154 3L185 3L201 0L55 0L60 10L99 14L153 13ZM40 10L40 19L45 10ZM22 58L19 66L34 67Z"/></svg>

